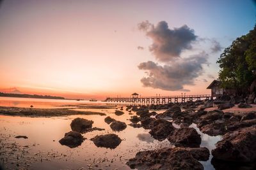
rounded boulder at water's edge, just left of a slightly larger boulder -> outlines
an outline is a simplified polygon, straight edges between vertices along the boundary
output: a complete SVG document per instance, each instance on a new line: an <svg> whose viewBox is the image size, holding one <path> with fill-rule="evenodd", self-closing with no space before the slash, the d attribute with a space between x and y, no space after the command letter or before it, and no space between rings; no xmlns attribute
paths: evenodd
<svg viewBox="0 0 256 170"><path fill-rule="evenodd" d="M152 122L151 131L149 132L153 138L163 141L169 136L175 129L171 122L164 119L158 119Z"/></svg>

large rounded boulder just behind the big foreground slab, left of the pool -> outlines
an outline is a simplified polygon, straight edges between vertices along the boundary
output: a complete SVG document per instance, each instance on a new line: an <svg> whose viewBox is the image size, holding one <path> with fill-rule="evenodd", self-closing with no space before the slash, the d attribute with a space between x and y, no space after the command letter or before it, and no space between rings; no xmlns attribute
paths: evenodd
<svg viewBox="0 0 256 170"><path fill-rule="evenodd" d="M175 146L191 148L199 148L202 141L200 134L192 127L175 129L167 139Z"/></svg>

